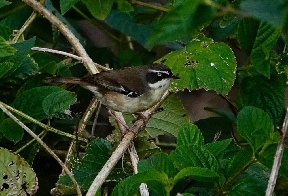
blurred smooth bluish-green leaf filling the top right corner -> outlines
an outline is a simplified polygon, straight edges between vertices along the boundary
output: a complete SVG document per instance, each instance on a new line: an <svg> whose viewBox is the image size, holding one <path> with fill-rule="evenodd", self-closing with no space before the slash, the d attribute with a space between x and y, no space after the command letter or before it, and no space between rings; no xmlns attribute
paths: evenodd
<svg viewBox="0 0 288 196"><path fill-rule="evenodd" d="M241 9L249 15L281 28L287 20L287 3L281 0L242 1Z"/></svg>

